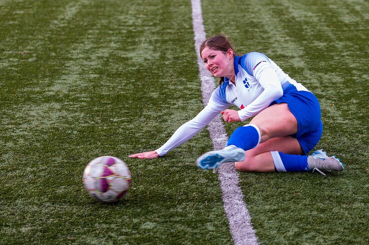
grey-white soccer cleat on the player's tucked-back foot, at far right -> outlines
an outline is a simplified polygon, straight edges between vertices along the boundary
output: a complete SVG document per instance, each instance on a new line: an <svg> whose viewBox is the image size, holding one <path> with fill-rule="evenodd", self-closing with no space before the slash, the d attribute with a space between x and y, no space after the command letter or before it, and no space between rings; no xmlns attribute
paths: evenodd
<svg viewBox="0 0 369 245"><path fill-rule="evenodd" d="M312 166L312 172L316 170L320 174L325 176L325 174L322 173L321 170L342 171L344 169L343 164L340 162L339 158L336 158L335 156L328 157L326 155L326 152L324 152L322 149L314 151L309 157L314 159L312 162L308 161L308 163L310 162L310 165Z"/></svg>

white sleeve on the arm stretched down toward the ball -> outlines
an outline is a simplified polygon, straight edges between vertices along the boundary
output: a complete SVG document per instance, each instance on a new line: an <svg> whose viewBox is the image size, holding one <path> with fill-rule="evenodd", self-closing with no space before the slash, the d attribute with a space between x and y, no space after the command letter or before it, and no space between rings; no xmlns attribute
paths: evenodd
<svg viewBox="0 0 369 245"><path fill-rule="evenodd" d="M228 106L217 106L209 101L209 103L197 114L197 116L180 126L164 145L155 150L156 153L159 156L164 156L168 151L183 144L196 135L217 114L219 114L220 111L227 107Z"/></svg>

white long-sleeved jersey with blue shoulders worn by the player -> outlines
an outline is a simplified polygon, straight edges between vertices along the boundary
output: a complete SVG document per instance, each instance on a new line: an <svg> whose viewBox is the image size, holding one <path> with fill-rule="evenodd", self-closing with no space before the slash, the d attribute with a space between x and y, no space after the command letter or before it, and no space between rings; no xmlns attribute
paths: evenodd
<svg viewBox="0 0 369 245"><path fill-rule="evenodd" d="M224 82L211 94L208 104L192 120L180 126L170 139L156 150L159 156L181 145L205 127L216 115L230 105L240 110L241 121L246 120L283 95L283 89L293 84L297 90L308 91L291 79L265 54L250 52L234 57L235 84Z"/></svg>

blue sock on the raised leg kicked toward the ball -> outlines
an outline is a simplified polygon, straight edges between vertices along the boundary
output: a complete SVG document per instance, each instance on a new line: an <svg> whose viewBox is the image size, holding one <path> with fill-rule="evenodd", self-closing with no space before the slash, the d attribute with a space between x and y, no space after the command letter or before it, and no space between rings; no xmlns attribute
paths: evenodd
<svg viewBox="0 0 369 245"><path fill-rule="evenodd" d="M256 125L246 124L236 128L229 137L227 146L235 145L247 151L254 148L260 142L260 131Z"/></svg>

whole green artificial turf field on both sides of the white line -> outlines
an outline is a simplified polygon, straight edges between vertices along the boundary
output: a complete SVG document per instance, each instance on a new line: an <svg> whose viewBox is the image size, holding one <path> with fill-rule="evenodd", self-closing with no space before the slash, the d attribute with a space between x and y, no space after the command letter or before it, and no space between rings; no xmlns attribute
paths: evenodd
<svg viewBox="0 0 369 245"><path fill-rule="evenodd" d="M203 0L207 35L259 51L315 93L315 149L345 170L240 173L260 244L369 241L369 2ZM0 244L231 244L202 130L155 160L203 107L189 0L0 0ZM244 123L224 124L229 135ZM92 200L82 172L112 155L132 186Z"/></svg>

